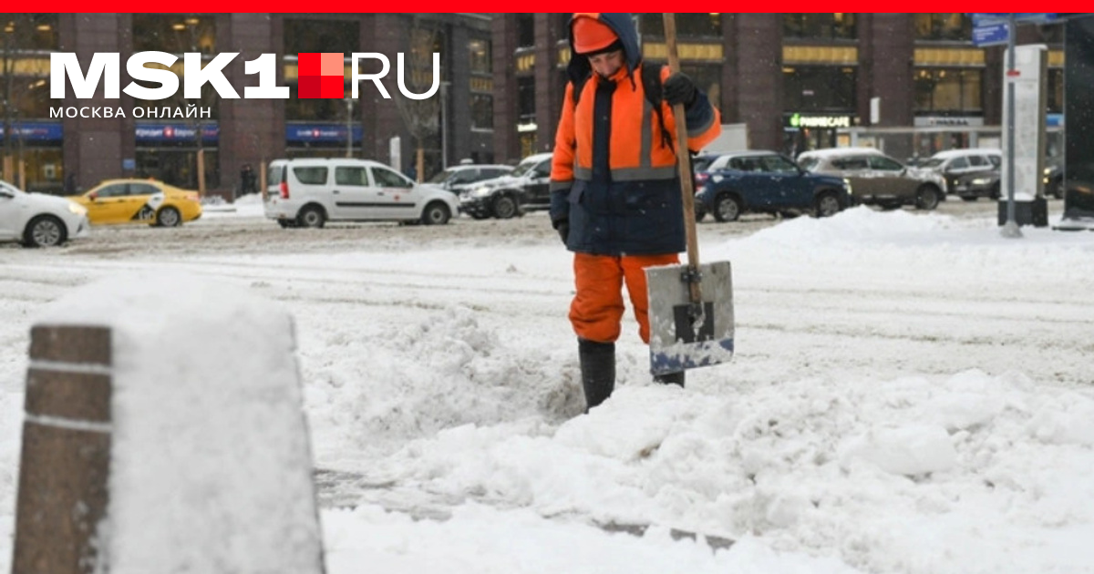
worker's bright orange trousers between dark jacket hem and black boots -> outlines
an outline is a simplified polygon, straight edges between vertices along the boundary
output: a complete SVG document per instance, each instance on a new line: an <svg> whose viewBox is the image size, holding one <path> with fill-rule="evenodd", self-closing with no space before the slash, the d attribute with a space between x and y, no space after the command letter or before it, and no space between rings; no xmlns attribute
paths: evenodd
<svg viewBox="0 0 1094 574"><path fill-rule="evenodd" d="M677 254L666 255L573 255L577 295L570 304L570 323L578 337L601 343L619 338L622 320L622 284L635 307L638 336L650 342L650 301L645 292L647 267L679 263Z"/></svg>

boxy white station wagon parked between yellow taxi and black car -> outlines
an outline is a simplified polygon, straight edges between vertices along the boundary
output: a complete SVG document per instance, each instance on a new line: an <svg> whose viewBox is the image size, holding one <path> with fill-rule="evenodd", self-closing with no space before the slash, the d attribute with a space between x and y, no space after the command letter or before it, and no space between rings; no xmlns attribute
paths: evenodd
<svg viewBox="0 0 1094 574"><path fill-rule="evenodd" d="M328 221L442 225L458 213L455 196L443 188L352 157L270 162L263 208L282 227L322 227Z"/></svg>

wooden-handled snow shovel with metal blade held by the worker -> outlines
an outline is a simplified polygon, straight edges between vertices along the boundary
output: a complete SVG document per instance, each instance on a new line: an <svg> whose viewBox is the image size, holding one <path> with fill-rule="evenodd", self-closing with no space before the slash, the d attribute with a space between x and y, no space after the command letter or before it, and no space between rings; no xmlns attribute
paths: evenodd
<svg viewBox="0 0 1094 574"><path fill-rule="evenodd" d="M668 68L679 72L676 55L676 15L664 14ZM687 265L645 270L650 300L650 372L675 373L724 363L733 358L733 283L730 262L699 265L695 231L695 190L687 150L684 105L673 106L676 118L676 163L684 194Z"/></svg>

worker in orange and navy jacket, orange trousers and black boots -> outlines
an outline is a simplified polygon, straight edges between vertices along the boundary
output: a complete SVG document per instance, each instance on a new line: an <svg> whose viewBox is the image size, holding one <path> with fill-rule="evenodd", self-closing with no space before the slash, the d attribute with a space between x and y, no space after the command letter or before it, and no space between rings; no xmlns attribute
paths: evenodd
<svg viewBox="0 0 1094 574"><path fill-rule="evenodd" d="M570 49L570 82L551 162L550 219L574 253L570 323L592 408L615 388L622 285L639 337L649 344L644 269L678 263L686 248L672 106L684 105L684 144L691 151L718 137L721 117L686 74L667 67L657 73L656 66L642 62L630 14L574 14ZM683 371L654 378L684 385Z"/></svg>

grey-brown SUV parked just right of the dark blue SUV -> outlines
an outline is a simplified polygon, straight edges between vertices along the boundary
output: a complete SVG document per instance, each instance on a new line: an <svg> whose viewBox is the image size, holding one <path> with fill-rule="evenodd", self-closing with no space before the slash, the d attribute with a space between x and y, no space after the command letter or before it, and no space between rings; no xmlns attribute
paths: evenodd
<svg viewBox="0 0 1094 574"><path fill-rule="evenodd" d="M798 164L807 172L849 180L859 203L932 210L946 198L946 181L940 174L906 167L874 148L807 151L798 156Z"/></svg>

